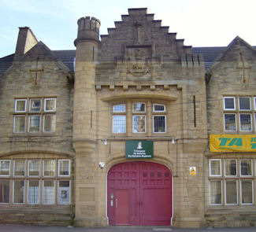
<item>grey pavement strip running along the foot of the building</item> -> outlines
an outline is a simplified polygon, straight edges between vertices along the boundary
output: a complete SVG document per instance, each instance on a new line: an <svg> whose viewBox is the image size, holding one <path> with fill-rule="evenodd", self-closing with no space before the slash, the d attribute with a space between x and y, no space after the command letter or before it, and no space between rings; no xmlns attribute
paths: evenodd
<svg viewBox="0 0 256 232"><path fill-rule="evenodd" d="M0 232L256 232L256 227L239 228L174 228L161 226L107 226L100 228L71 226L30 226L0 224Z"/></svg>

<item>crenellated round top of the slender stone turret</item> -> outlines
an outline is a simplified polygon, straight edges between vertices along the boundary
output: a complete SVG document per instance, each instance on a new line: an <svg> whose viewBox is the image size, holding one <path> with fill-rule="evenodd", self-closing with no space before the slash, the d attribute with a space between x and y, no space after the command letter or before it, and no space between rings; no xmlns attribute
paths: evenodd
<svg viewBox="0 0 256 232"><path fill-rule="evenodd" d="M81 40L95 40L98 42L100 20L95 17L81 17L78 21L77 39L75 46Z"/></svg>

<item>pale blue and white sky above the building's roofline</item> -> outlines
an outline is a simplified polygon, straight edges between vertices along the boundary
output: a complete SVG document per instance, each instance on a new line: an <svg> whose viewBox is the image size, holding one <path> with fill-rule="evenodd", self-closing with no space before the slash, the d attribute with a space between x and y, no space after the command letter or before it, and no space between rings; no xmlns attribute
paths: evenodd
<svg viewBox="0 0 256 232"><path fill-rule="evenodd" d="M15 52L19 27L50 50L75 50L80 17L98 18L106 35L128 8L141 7L186 46L228 46L237 35L256 46L256 0L0 0L0 57Z"/></svg>

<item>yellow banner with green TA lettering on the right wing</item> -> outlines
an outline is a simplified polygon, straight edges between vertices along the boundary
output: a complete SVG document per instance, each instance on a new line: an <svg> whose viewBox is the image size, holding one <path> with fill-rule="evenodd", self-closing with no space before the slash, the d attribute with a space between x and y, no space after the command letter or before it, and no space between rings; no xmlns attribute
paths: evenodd
<svg viewBox="0 0 256 232"><path fill-rule="evenodd" d="M210 134L210 152L256 152L256 134Z"/></svg>

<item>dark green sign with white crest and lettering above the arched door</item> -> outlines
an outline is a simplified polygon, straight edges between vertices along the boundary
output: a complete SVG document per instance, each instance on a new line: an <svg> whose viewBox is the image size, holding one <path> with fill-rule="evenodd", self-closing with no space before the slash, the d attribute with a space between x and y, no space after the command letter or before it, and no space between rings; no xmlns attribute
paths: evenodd
<svg viewBox="0 0 256 232"><path fill-rule="evenodd" d="M125 157L127 159L154 157L153 141L134 140L125 142Z"/></svg>

